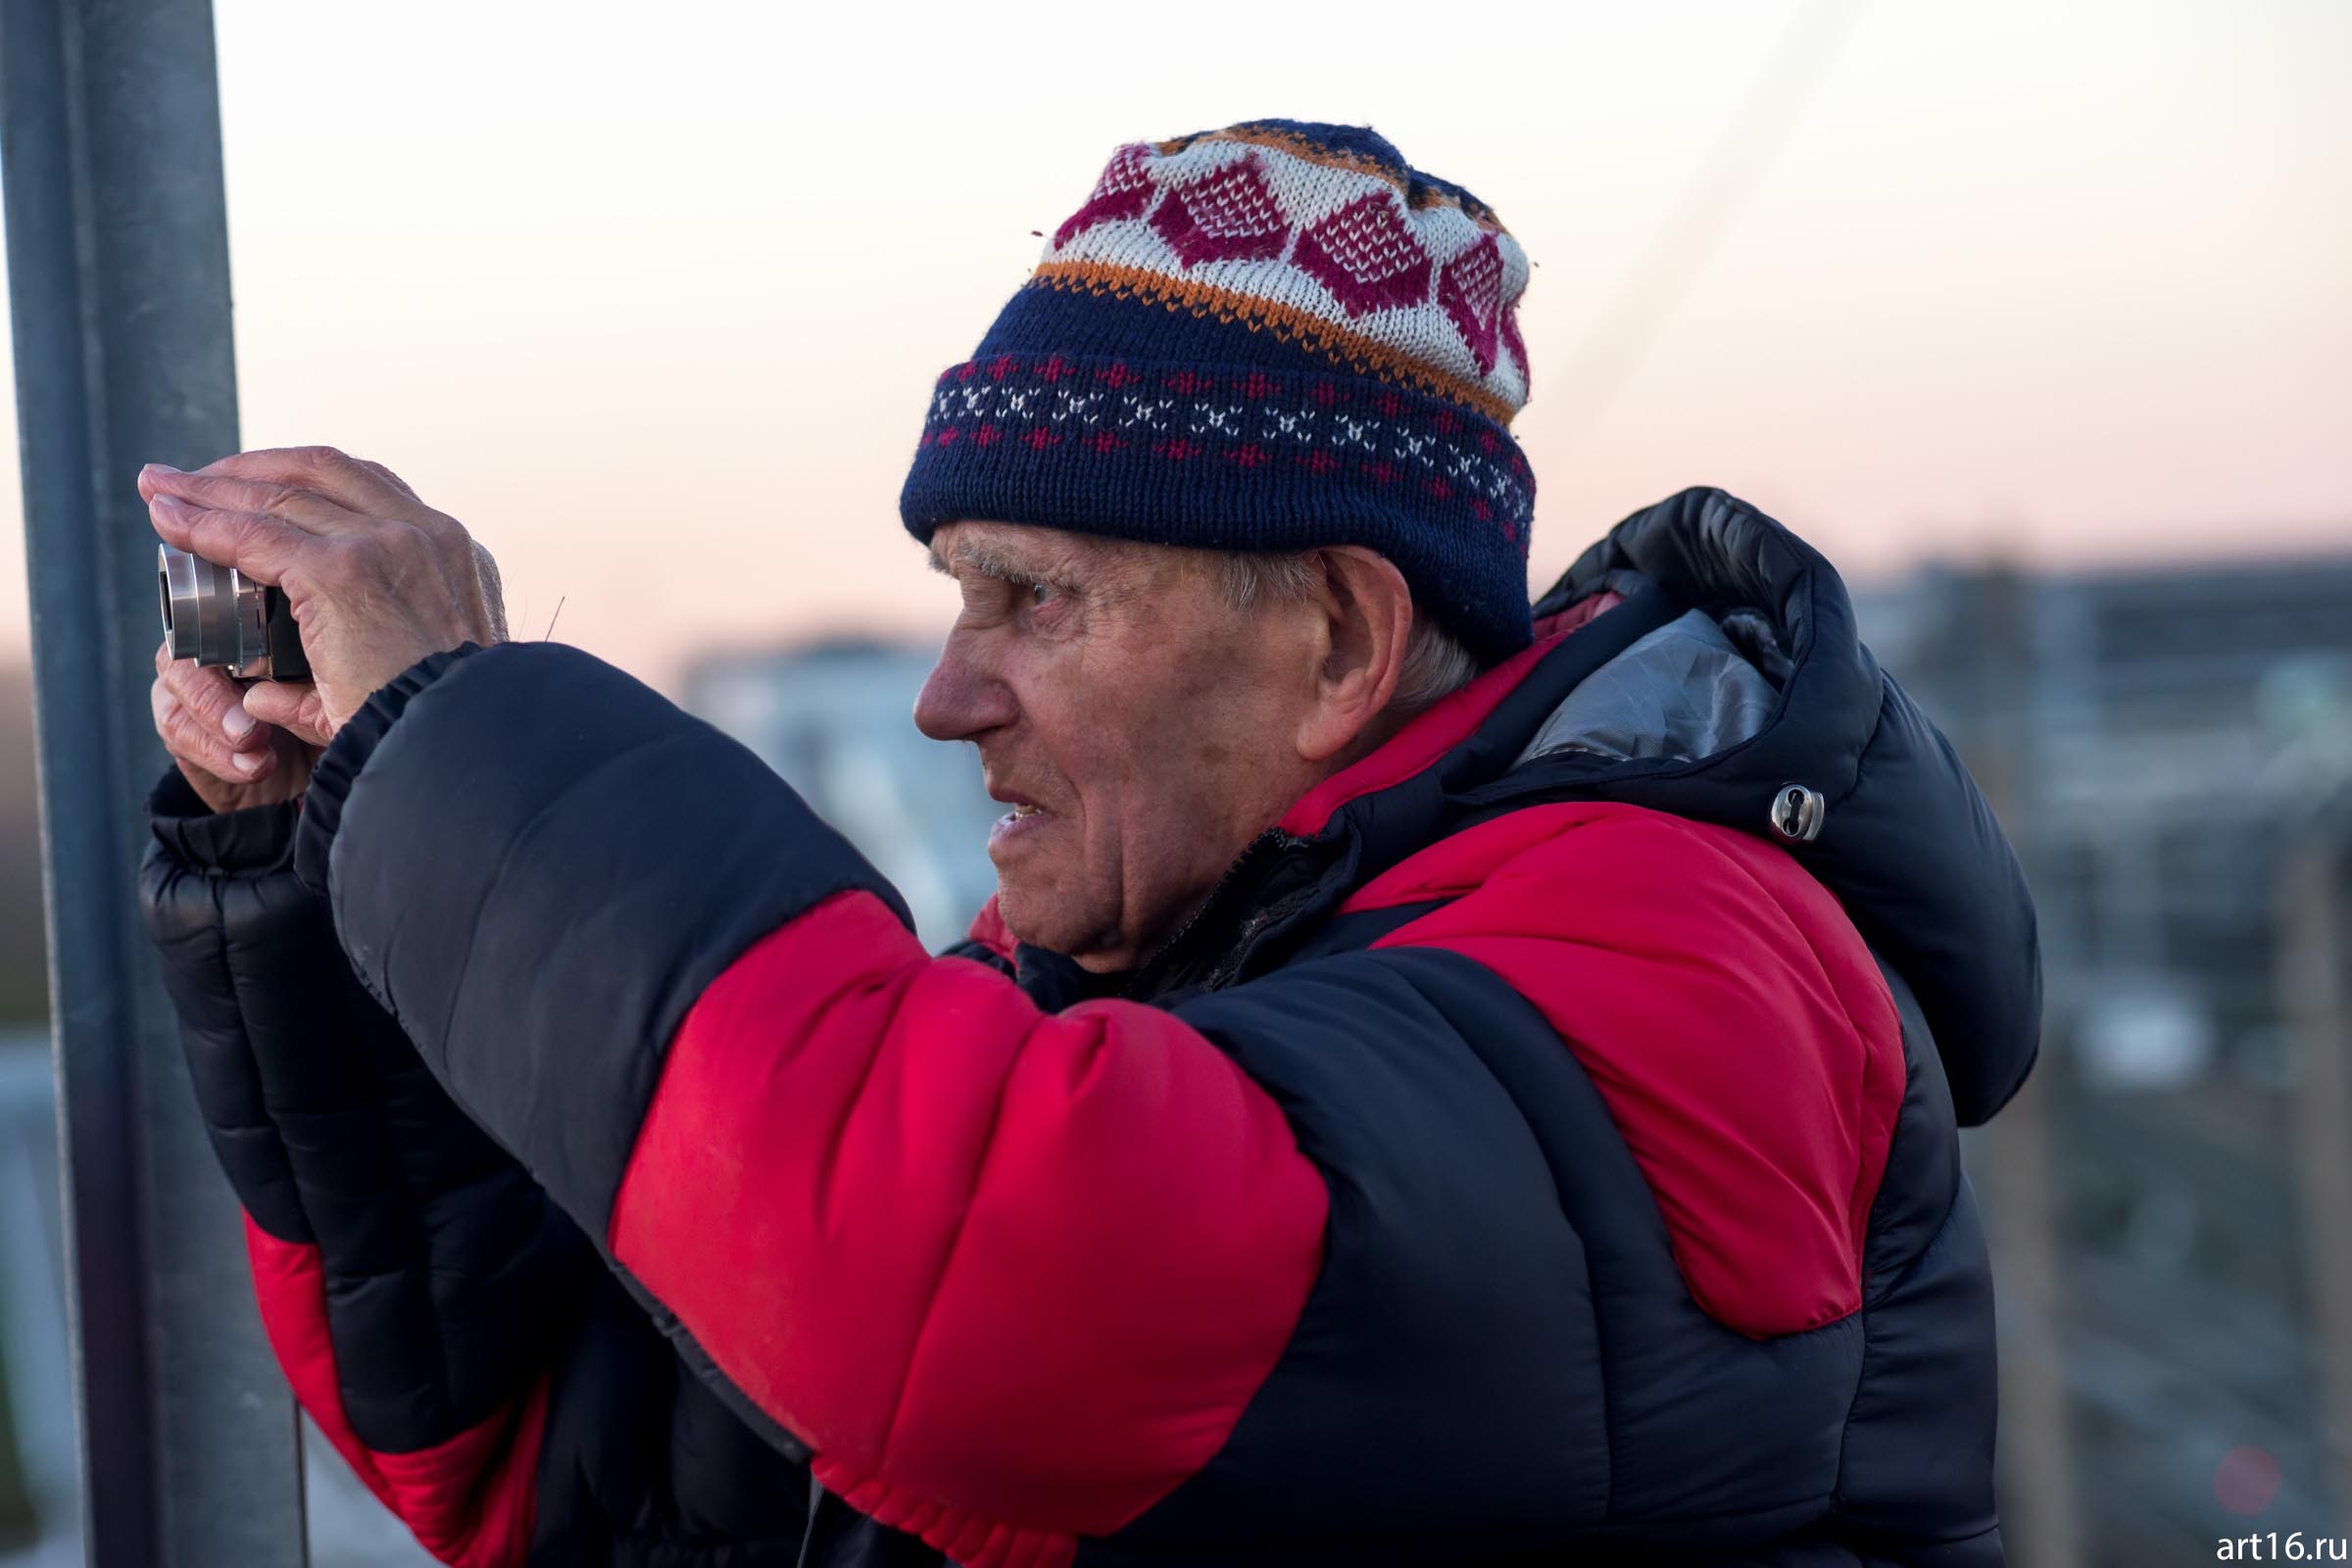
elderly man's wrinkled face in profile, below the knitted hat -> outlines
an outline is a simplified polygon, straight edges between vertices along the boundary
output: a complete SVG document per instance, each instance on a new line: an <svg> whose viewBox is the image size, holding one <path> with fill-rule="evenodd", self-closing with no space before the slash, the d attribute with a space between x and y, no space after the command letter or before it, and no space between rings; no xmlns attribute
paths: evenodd
<svg viewBox="0 0 2352 1568"><path fill-rule="evenodd" d="M1315 618L1237 611L1214 557L1004 522L931 536L962 590L915 698L934 741L981 748L1000 912L1025 943L1131 969L1319 769Z"/></svg>

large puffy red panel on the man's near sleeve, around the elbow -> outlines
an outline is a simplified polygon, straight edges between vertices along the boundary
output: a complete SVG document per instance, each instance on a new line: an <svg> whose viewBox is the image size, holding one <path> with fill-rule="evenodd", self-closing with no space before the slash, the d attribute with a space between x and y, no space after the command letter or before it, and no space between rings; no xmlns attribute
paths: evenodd
<svg viewBox="0 0 2352 1568"><path fill-rule="evenodd" d="M837 893L694 1004L609 1244L826 1486L1016 1563L1223 1446L1324 1204L1279 1107L1169 1013L1040 1013Z"/></svg>

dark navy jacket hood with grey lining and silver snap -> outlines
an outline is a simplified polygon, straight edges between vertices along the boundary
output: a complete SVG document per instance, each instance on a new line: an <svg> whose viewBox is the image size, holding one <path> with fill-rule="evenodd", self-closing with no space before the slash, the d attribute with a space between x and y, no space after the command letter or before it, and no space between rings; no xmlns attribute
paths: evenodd
<svg viewBox="0 0 2352 1568"><path fill-rule="evenodd" d="M1578 679L1484 795L1606 797L1778 839L1917 994L1959 1121L1985 1121L2039 1048L2042 957L1969 769L1863 646L1830 562L1752 505L1689 489L1635 512L1536 616L1639 583L1686 614ZM1809 835L1776 811L1790 785L1813 797Z"/></svg>

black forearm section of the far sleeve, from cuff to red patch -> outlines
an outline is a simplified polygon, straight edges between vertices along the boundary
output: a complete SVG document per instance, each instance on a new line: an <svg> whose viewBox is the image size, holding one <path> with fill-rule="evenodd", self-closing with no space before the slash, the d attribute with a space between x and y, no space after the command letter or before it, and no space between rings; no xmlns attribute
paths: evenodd
<svg viewBox="0 0 2352 1568"><path fill-rule="evenodd" d="M546 1375L593 1248L355 980L294 877L299 804L214 816L172 771L148 809L141 907L221 1166L261 1232L318 1248L358 1441L445 1443Z"/></svg>

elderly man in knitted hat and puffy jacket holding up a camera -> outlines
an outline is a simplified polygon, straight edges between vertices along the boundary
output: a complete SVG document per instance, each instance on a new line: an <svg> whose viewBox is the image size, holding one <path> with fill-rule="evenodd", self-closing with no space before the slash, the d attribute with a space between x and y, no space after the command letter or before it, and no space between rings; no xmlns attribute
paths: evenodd
<svg viewBox="0 0 2352 1568"><path fill-rule="evenodd" d="M901 498L1009 806L946 957L388 470L143 473L303 625L162 668L143 891L287 1378L433 1552L1999 1561L2023 882L1752 508L1529 609L1524 280L1362 129L1112 158Z"/></svg>

